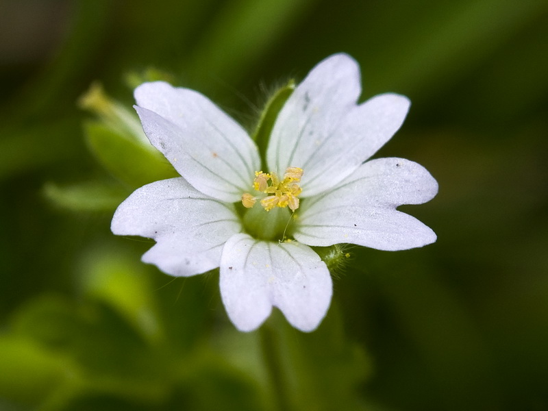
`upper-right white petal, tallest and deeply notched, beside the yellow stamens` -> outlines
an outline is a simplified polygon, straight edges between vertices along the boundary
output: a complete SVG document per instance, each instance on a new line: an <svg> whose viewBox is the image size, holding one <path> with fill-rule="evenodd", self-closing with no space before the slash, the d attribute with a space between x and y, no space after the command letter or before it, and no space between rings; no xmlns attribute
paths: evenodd
<svg viewBox="0 0 548 411"><path fill-rule="evenodd" d="M406 97L385 94L356 105L360 93L358 64L336 54L310 71L280 111L267 160L271 171L304 170L301 197L335 186L401 127Z"/></svg>

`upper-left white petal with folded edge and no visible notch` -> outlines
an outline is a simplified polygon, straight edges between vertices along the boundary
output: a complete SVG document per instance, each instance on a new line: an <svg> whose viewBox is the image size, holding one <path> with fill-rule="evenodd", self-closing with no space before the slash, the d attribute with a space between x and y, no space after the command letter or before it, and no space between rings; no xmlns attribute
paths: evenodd
<svg viewBox="0 0 548 411"><path fill-rule="evenodd" d="M236 202L260 169L258 149L236 121L199 92L145 83L135 98L151 143L197 190Z"/></svg>

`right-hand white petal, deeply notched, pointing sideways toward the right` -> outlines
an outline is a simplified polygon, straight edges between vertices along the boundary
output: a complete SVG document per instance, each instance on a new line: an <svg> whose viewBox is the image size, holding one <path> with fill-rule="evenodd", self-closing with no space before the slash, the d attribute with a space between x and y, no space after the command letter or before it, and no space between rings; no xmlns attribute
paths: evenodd
<svg viewBox="0 0 548 411"><path fill-rule="evenodd" d="M425 203L437 192L434 177L415 162L372 160L333 190L303 201L294 235L312 246L349 242L388 251L422 247L436 241L436 234L396 207Z"/></svg>

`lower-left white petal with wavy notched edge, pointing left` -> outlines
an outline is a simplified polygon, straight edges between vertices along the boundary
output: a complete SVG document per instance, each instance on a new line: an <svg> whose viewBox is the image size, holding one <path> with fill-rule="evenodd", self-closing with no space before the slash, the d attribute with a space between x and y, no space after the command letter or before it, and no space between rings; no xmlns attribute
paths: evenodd
<svg viewBox="0 0 548 411"><path fill-rule="evenodd" d="M112 232L154 238L142 260L171 275L195 275L219 266L226 240L240 232L232 204L212 199L184 178L142 186L114 213Z"/></svg>

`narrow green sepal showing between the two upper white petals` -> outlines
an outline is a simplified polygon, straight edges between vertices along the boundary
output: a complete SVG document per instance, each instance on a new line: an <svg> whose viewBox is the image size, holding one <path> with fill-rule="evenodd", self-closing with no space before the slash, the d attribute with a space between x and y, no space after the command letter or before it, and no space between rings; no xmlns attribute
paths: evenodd
<svg viewBox="0 0 548 411"><path fill-rule="evenodd" d="M251 134L251 138L256 142L257 147L259 147L263 169L266 169L266 147L269 145L270 135L279 114L279 110L282 110L282 107L284 107L284 104L294 90L295 80L290 79L285 86L278 88L274 92L268 101L266 101L259 121L255 127L255 131Z"/></svg>

